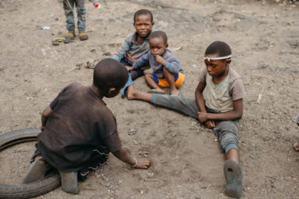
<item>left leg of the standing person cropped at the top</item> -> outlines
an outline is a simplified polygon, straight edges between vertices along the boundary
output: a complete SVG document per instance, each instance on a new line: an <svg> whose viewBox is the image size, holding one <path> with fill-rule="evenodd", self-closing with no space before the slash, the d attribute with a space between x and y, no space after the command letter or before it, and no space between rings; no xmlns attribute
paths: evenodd
<svg viewBox="0 0 299 199"><path fill-rule="evenodd" d="M66 28L68 29L67 37L74 39L75 36L75 19L73 13L74 0L63 0L63 10L66 18Z"/></svg>

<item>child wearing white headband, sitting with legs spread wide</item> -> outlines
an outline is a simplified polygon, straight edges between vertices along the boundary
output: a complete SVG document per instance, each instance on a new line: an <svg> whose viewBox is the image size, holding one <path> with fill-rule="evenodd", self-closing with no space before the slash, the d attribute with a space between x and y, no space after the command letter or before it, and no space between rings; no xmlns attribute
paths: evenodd
<svg viewBox="0 0 299 199"><path fill-rule="evenodd" d="M204 63L206 68L201 71L195 99L141 92L136 90L134 85L127 88L127 99L142 99L181 112L199 119L201 124L213 129L226 154L226 192L233 198L240 198L243 176L239 165L238 129L245 96L243 82L238 73L229 67L231 48L222 41L209 45L204 55Z"/></svg>

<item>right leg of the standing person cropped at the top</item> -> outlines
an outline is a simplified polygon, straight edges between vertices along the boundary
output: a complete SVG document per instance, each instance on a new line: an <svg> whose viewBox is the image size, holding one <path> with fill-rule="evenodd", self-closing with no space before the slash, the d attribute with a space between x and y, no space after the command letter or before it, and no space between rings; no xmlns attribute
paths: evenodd
<svg viewBox="0 0 299 199"><path fill-rule="evenodd" d="M78 31L79 38L81 41L87 40L88 36L85 34L85 23L86 23L86 10L84 6L85 0L75 0L77 6L77 16L78 16Z"/></svg>

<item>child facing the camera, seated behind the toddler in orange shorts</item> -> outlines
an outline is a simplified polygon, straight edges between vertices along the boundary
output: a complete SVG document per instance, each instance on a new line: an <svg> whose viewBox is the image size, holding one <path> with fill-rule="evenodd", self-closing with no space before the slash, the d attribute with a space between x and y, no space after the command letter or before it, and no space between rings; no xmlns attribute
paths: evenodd
<svg viewBox="0 0 299 199"><path fill-rule="evenodd" d="M113 59L119 61L123 65L132 66L135 61L150 50L149 36L152 33L152 26L154 26L152 12L146 9L136 11L134 14L135 33L130 34L125 38ZM141 77L144 74L143 70L149 68L139 68L131 71L132 80Z"/></svg>

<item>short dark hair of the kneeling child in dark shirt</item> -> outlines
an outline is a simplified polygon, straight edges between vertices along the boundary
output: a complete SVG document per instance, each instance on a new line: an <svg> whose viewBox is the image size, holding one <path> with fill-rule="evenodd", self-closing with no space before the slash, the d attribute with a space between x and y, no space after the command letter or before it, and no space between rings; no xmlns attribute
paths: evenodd
<svg viewBox="0 0 299 199"><path fill-rule="evenodd" d="M99 89L115 87L120 89L128 80L128 72L122 63L111 58L101 60L93 71L93 85Z"/></svg>

